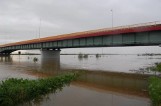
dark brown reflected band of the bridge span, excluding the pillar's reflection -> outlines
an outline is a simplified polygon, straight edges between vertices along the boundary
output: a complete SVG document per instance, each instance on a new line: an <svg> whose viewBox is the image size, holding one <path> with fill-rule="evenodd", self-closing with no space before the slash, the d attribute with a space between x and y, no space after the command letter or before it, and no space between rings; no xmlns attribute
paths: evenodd
<svg viewBox="0 0 161 106"><path fill-rule="evenodd" d="M85 71L74 85L148 97L148 75Z"/></svg>

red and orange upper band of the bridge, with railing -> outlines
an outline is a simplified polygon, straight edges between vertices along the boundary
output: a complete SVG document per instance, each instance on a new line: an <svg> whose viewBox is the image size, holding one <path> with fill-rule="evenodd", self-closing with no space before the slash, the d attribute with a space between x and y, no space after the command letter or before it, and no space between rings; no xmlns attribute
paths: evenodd
<svg viewBox="0 0 161 106"><path fill-rule="evenodd" d="M50 41L58 41L58 40L66 40L66 39L86 38L86 37L93 37L93 36L107 36L107 35L116 35L116 34L124 34L124 33L157 31L157 30L161 30L161 22L150 22L150 23L135 24L135 25L128 25L128 26L119 26L114 28L104 28L104 29L98 29L98 30L77 32L77 33L71 33L71 34L63 34L58 36L51 36L46 38L9 43L5 45L0 45L0 47L16 46L16 45L32 44L32 43L40 43L40 42L50 42Z"/></svg>

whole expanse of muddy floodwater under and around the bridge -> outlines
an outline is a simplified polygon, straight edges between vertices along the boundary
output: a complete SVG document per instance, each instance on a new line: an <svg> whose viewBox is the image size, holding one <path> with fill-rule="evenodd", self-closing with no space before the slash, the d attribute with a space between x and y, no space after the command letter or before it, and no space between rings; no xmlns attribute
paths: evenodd
<svg viewBox="0 0 161 106"><path fill-rule="evenodd" d="M37 62L33 61L34 57L38 58ZM149 72L139 69L156 62L161 62L161 56L61 55L60 59L41 59L41 55L11 55L0 57L0 80L36 79L71 70L82 71L84 74L77 81L33 106L150 106ZM31 104L23 106L28 105Z"/></svg>

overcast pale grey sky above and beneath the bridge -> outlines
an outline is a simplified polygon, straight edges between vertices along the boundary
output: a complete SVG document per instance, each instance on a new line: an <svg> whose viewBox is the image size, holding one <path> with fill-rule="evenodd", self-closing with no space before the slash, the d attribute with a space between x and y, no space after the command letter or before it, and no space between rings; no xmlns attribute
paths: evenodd
<svg viewBox="0 0 161 106"><path fill-rule="evenodd" d="M114 27L161 21L161 0L0 0L0 44L38 38L39 28L40 37L47 37L112 27L111 10ZM161 52L159 47L109 49L103 48L105 52Z"/></svg>

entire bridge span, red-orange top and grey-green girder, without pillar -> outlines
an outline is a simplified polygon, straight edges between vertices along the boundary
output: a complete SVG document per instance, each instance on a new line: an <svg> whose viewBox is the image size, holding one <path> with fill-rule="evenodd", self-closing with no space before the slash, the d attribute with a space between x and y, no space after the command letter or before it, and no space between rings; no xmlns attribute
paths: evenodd
<svg viewBox="0 0 161 106"><path fill-rule="evenodd" d="M104 28L0 45L0 54L17 50L41 49L49 51L64 48L151 46L161 44L161 22L150 22L113 28ZM52 53L51 53L52 54Z"/></svg>

